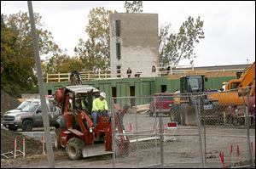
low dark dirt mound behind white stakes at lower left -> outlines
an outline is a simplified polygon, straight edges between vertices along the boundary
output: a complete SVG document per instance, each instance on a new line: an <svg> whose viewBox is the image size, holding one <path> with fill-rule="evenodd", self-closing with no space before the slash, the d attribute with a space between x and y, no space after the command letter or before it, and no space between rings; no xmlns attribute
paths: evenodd
<svg viewBox="0 0 256 169"><path fill-rule="evenodd" d="M22 138L25 138L26 155L34 155L42 150L42 144L33 138L26 137L20 132L12 132L9 130L1 129L1 154L14 151L14 141L16 138L17 149L22 151Z"/></svg>

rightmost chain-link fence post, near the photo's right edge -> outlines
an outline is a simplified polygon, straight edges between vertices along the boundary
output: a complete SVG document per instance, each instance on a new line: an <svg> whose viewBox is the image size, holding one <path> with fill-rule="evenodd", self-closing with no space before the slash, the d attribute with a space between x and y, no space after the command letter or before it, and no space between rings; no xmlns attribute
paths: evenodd
<svg viewBox="0 0 256 169"><path fill-rule="evenodd" d="M247 127L247 152L248 152L248 160L250 163L253 163L253 156L250 144L250 128L249 128L249 97L250 97L250 88L247 88L247 106L246 106L246 127ZM242 96L243 97L243 96Z"/></svg>

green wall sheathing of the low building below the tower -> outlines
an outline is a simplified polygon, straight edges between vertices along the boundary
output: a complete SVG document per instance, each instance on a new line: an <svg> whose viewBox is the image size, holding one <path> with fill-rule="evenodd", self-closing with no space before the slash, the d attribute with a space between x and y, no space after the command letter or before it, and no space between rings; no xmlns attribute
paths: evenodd
<svg viewBox="0 0 256 169"><path fill-rule="evenodd" d="M206 87L208 89L220 89L222 82L228 82L230 79L234 79L236 76L220 76L220 77L208 77ZM55 93L55 90L59 87L66 87L70 82L48 82L44 83L45 93L51 90L51 93ZM150 96L153 93L160 93L161 85L166 85L167 92L175 92L179 89L179 79L169 79L166 77L140 77L140 78L120 78L120 79L102 79L85 81L83 84L98 87L101 91L107 94L108 104L111 102L112 87L116 87L117 97L130 96L130 87L135 87L135 96ZM128 99L127 99L128 100ZM129 100L119 101L121 106L127 103ZM137 99L136 104L143 104L147 101L143 99Z"/></svg>

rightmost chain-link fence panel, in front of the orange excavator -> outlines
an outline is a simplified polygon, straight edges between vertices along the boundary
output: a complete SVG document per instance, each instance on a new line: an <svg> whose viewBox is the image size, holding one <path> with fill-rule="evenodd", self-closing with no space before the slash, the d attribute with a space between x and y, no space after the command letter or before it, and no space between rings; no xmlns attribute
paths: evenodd
<svg viewBox="0 0 256 169"><path fill-rule="evenodd" d="M255 93L252 88L207 93L218 100L211 110L201 103L204 162L206 167L255 165ZM254 87L253 87L254 91Z"/></svg>

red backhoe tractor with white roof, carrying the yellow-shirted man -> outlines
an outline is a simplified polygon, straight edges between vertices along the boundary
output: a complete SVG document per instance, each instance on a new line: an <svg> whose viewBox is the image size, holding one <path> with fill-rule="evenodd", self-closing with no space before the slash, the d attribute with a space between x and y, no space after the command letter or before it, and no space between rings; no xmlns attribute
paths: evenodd
<svg viewBox="0 0 256 169"><path fill-rule="evenodd" d="M77 83L76 83L77 84ZM130 140L125 136L123 117L130 105L126 104L123 109L118 104L114 106L114 116L103 116L99 112L96 127L91 119L92 100L97 96L99 90L89 85L61 87L55 92L55 102L61 108L58 117L58 125L55 128L55 148L66 149L71 160L79 160L82 157L112 154L114 127L120 133L117 141L117 155L128 153ZM86 108L80 106L81 99L86 102ZM71 101L72 100L72 101Z"/></svg>

